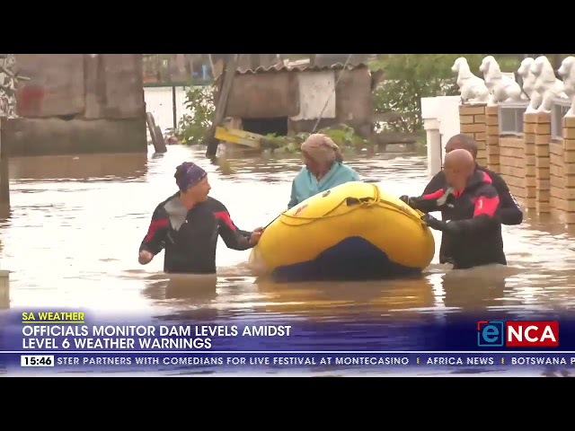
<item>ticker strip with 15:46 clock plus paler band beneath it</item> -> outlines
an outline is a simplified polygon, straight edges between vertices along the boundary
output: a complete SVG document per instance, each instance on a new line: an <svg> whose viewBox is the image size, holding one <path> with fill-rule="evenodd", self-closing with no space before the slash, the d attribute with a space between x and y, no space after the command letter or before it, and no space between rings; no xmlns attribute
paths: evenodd
<svg viewBox="0 0 575 431"><path fill-rule="evenodd" d="M575 352L1 352L7 374L159 373L236 374L334 371L417 374L504 369L562 369L571 373Z"/></svg>

